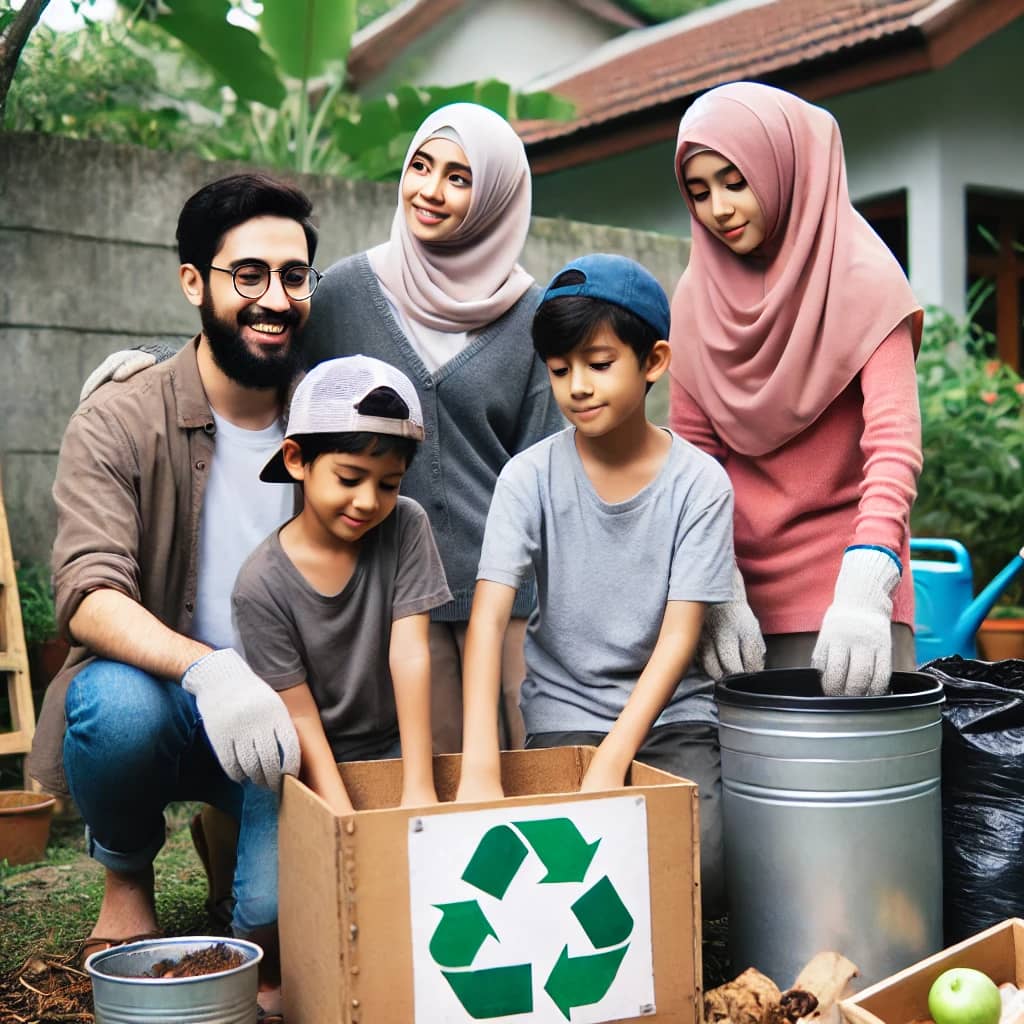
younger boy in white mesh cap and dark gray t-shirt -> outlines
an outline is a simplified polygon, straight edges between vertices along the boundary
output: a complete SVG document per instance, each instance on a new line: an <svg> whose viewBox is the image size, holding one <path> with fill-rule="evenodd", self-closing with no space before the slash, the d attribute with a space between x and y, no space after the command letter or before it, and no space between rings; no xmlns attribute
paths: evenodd
<svg viewBox="0 0 1024 1024"><path fill-rule="evenodd" d="M249 556L231 598L246 660L292 716L300 776L337 814L352 811L338 761L400 756L402 805L437 803L428 613L452 595L426 514L398 496L422 439L400 371L365 355L310 371L260 473L300 482L302 511ZM278 798L249 788L239 844L265 852L264 926L276 920Z"/></svg>

